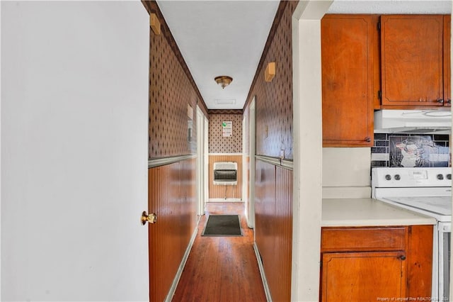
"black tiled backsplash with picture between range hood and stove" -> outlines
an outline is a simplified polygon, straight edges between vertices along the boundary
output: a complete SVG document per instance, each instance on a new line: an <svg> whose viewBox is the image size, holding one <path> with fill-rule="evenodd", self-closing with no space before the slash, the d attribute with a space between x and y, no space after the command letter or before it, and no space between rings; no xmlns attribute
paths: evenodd
<svg viewBox="0 0 453 302"><path fill-rule="evenodd" d="M449 135L374 133L371 167L447 167Z"/></svg>

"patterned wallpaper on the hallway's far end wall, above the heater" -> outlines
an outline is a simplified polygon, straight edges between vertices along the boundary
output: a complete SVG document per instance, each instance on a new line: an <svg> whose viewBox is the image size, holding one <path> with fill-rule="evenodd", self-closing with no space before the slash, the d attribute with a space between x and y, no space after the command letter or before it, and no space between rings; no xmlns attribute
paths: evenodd
<svg viewBox="0 0 453 302"><path fill-rule="evenodd" d="M233 122L233 135L222 135L222 122ZM241 114L210 114L209 128L210 153L241 153L242 152L242 116Z"/></svg>

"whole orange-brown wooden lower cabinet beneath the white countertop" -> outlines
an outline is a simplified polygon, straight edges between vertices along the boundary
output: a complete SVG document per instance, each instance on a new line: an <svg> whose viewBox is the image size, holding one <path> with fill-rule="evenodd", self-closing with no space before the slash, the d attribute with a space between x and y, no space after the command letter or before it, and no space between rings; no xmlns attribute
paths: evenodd
<svg viewBox="0 0 453 302"><path fill-rule="evenodd" d="M420 301L431 269L432 225L322 229L323 302Z"/></svg>

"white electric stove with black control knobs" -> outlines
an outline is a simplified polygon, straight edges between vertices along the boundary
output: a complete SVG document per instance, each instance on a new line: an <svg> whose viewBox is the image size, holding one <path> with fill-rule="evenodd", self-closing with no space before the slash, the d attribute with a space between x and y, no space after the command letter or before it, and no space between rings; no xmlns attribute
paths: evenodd
<svg viewBox="0 0 453 302"><path fill-rule="evenodd" d="M449 301L452 168L373 168L372 197L436 218L432 301Z"/></svg>

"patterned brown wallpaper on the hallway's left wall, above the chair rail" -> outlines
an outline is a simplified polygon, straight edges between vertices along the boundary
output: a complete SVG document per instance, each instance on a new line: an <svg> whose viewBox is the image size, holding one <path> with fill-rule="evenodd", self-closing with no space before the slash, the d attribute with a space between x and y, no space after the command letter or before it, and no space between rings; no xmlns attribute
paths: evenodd
<svg viewBox="0 0 453 302"><path fill-rule="evenodd" d="M152 30L149 61L149 158L193 154L197 138L197 92L168 40ZM190 141L188 104L193 108Z"/></svg>

